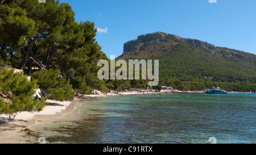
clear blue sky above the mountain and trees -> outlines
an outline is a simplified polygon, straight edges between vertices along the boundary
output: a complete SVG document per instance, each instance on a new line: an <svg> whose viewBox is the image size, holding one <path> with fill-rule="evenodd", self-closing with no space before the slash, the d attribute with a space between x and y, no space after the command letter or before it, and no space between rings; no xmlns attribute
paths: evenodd
<svg viewBox="0 0 256 155"><path fill-rule="evenodd" d="M212 1L212 0L210 0ZM139 35L166 32L256 54L256 0L60 0L76 21L94 22L108 57Z"/></svg>

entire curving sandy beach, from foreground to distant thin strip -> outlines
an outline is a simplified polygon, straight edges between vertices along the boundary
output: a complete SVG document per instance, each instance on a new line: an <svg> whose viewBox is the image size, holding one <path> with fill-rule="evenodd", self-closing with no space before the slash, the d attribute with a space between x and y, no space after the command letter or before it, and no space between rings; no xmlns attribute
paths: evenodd
<svg viewBox="0 0 256 155"><path fill-rule="evenodd" d="M122 93L108 93L104 94L92 94L92 95L83 95L80 99L86 98L99 98L99 97L112 97L114 95L134 95L134 94L143 94L138 92L122 92ZM144 93L152 94L152 92ZM78 100L68 101L56 101L56 100L46 100L46 106L43 108L43 111L40 112L20 112L15 116L14 119L9 119L8 115L0 115L0 144L19 144L26 143L28 138L27 133L19 133L21 129L30 128L31 125L36 123L44 123L47 120L53 117L61 117L67 109L72 110L75 108L72 106L74 102Z"/></svg>

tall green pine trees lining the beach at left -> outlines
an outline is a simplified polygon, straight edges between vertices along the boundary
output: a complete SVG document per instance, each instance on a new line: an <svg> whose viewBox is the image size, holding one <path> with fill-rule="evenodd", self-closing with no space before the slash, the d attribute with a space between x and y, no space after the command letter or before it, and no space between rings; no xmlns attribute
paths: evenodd
<svg viewBox="0 0 256 155"><path fill-rule="evenodd" d="M106 81L97 78L98 60L108 60L95 39L97 29L93 22L75 22L75 12L68 3L1 0L0 12L1 68L11 66L31 76L31 84L15 82L23 87L20 94L28 91L22 95L24 100L32 98L32 90L38 86L46 90L47 98L59 100L73 99L75 93L90 94L93 89L108 91ZM8 79L6 87L0 80L1 92L15 93L13 79ZM19 111L41 109L37 101L24 102L26 107L19 101L6 103L4 97L0 97L1 113L14 114L19 106Z"/></svg>

